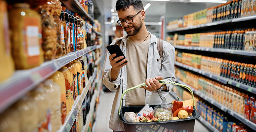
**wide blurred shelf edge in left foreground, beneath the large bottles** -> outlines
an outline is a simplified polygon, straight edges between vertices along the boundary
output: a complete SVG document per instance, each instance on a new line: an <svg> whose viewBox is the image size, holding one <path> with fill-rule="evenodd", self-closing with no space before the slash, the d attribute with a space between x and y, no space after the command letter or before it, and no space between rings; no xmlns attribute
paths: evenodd
<svg viewBox="0 0 256 132"><path fill-rule="evenodd" d="M58 59L44 62L32 69L16 70L12 77L0 83L0 113L64 65L94 49L96 46L90 46Z"/></svg>

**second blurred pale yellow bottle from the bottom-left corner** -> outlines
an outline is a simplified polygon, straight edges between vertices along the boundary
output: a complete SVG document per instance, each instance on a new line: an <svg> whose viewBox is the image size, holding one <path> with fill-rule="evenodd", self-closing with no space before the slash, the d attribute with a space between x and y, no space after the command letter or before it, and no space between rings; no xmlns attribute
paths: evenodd
<svg viewBox="0 0 256 132"><path fill-rule="evenodd" d="M19 111L19 118L17 120L20 119L20 132L33 132L37 130L39 113L35 99L26 94L15 105L15 109Z"/></svg>

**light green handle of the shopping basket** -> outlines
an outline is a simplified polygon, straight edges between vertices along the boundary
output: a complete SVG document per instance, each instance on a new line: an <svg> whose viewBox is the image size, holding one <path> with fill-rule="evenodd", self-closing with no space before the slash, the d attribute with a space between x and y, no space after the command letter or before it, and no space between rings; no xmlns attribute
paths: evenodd
<svg viewBox="0 0 256 132"><path fill-rule="evenodd" d="M196 108L195 102L194 102L194 94L193 94L192 89L191 89L189 86L183 85L183 84L179 84L179 83L175 83L175 82L166 81L166 80L158 80L158 82L159 82L160 84L178 85L178 86L181 86L181 87L184 87L184 88L188 89L189 92L190 92L191 95L192 95L194 108ZM131 87L131 88L129 88L129 89L126 89L126 90L123 92L123 94L122 94L122 96L121 96L121 100L120 100L120 106L119 106L118 115L120 115L120 110L121 110L121 105L122 105L122 100L123 100L124 95L125 95L127 92L131 91L132 89L135 89L135 88L138 88L138 87L143 87L143 86L146 86L146 83L142 83L142 84L139 84L139 85L137 85L137 86Z"/></svg>

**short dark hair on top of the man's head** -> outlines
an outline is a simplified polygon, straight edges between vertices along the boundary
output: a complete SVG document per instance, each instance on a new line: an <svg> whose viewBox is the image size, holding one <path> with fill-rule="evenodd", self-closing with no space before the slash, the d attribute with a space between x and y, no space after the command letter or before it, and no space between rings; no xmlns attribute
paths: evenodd
<svg viewBox="0 0 256 132"><path fill-rule="evenodd" d="M115 10L119 11L122 9L123 11L125 11L131 5L133 5L135 10L144 10L141 0L117 0L115 2Z"/></svg>

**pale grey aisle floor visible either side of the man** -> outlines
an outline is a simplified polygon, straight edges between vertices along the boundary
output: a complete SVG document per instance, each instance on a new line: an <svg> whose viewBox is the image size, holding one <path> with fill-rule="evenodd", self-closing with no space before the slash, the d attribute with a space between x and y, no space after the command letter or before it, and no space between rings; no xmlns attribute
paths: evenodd
<svg viewBox="0 0 256 132"><path fill-rule="evenodd" d="M101 93L100 104L96 116L96 129L93 132L113 132L109 128L109 118L112 108L112 103L115 97L115 91L111 93ZM166 96L167 100L175 100L170 94ZM170 101L167 101L170 102ZM209 132L199 121L196 120L194 132Z"/></svg>

